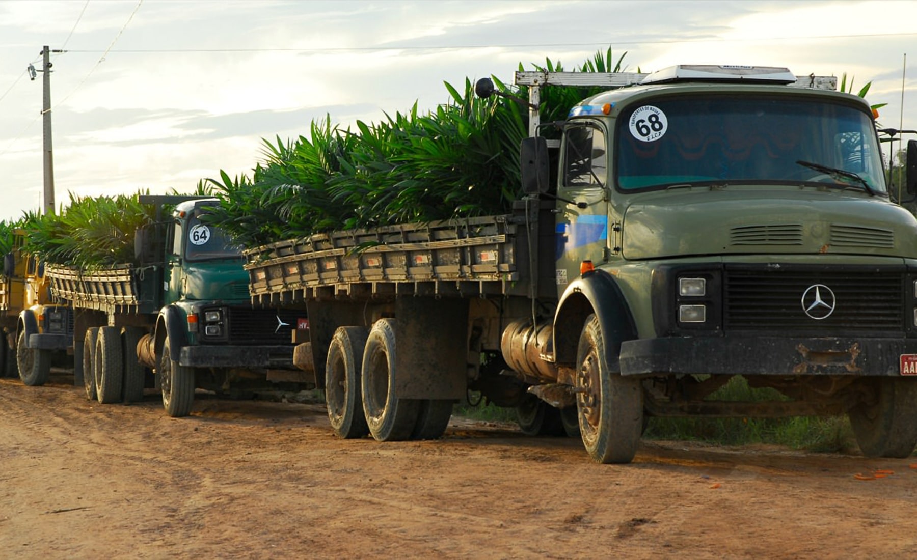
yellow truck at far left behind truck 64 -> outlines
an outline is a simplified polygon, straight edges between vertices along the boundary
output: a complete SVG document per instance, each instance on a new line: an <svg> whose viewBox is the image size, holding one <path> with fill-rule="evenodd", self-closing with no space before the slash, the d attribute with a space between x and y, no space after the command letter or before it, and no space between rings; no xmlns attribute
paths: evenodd
<svg viewBox="0 0 917 560"><path fill-rule="evenodd" d="M26 233L17 230L13 250L4 256L0 276L0 375L26 385L43 385L52 363L65 365L72 355L73 313L55 302L45 280L44 265L27 250ZM77 362L82 366L82 360ZM82 371L74 369L82 385Z"/></svg>

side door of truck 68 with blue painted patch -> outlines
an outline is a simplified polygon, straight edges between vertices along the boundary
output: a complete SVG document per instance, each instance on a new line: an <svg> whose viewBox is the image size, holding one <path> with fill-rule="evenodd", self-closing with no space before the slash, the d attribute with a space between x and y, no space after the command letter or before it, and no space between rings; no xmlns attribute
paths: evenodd
<svg viewBox="0 0 917 560"><path fill-rule="evenodd" d="M580 262L598 265L608 247L608 150L597 122L569 125L558 177L557 283L562 293L580 275ZM564 199L564 200L560 200Z"/></svg>

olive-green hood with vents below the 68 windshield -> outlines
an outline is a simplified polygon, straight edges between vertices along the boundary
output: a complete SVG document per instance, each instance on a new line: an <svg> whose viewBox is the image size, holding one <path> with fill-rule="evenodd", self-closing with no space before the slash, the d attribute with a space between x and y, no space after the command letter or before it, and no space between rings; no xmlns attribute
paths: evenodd
<svg viewBox="0 0 917 560"><path fill-rule="evenodd" d="M624 258L856 254L917 258L917 220L865 194L732 190L648 192L624 213Z"/></svg>

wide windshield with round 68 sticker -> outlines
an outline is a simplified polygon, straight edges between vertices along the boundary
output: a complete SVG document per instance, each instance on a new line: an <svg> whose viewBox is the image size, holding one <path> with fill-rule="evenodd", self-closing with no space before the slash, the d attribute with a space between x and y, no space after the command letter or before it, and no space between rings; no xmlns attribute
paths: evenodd
<svg viewBox="0 0 917 560"><path fill-rule="evenodd" d="M767 182L886 192L872 120L850 105L760 95L659 98L624 111L616 126L615 184L625 191Z"/></svg>

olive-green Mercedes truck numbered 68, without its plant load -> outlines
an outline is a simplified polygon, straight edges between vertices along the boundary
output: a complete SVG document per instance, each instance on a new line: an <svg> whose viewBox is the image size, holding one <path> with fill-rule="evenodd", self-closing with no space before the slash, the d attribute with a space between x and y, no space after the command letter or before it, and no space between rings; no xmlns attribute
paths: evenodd
<svg viewBox="0 0 917 560"><path fill-rule="evenodd" d="M601 463L631 461L650 416L846 414L867 456L911 454L917 220L863 99L770 67L515 82L512 213L246 251L252 302L308 317L295 361L338 435L437 437L472 390ZM540 122L541 88L580 85L608 91ZM784 398L711 398L734 376Z"/></svg>

